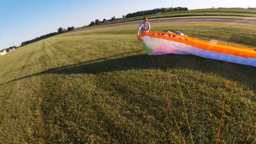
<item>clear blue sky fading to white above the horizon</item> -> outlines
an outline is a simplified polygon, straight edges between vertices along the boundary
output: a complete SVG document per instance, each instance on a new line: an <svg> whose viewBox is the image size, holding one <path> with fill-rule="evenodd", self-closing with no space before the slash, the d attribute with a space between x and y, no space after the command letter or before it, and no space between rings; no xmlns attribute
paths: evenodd
<svg viewBox="0 0 256 144"><path fill-rule="evenodd" d="M0 50L57 32L59 27L82 27L95 19L162 7L256 7L255 0L0 0Z"/></svg>

